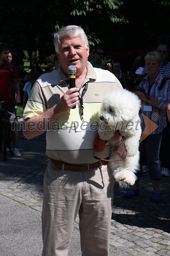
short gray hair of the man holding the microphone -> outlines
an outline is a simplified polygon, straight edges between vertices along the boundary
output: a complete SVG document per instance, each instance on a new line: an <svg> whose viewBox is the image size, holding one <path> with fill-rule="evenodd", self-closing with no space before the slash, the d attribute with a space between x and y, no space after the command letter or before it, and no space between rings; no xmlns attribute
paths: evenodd
<svg viewBox="0 0 170 256"><path fill-rule="evenodd" d="M65 36L69 36L70 38L81 37L82 40L84 41L85 47L87 47L88 45L87 36L84 30L79 26L71 25L71 26L62 27L53 35L54 35L54 46L55 46L56 52L59 52L59 45L61 44L61 39L62 37L65 37Z"/></svg>

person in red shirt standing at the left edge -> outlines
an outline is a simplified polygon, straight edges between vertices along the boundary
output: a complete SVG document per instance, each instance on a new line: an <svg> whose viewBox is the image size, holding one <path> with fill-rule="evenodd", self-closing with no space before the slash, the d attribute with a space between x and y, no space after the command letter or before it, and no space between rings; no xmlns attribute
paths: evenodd
<svg viewBox="0 0 170 256"><path fill-rule="evenodd" d="M20 157L21 154L17 148L18 131L15 122L14 105L20 103L20 86L18 74L15 66L8 62L9 47L0 43L0 108L7 110L10 114L11 139L13 144L14 156ZM16 92L16 98L13 102L12 84Z"/></svg>

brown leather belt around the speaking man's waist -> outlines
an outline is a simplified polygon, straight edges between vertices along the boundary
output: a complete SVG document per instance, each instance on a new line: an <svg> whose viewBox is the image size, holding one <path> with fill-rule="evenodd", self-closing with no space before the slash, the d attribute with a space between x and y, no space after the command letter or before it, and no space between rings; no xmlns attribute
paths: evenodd
<svg viewBox="0 0 170 256"><path fill-rule="evenodd" d="M100 167L102 165L107 164L106 161L99 161L96 163L91 163L91 164L69 164L69 163L61 163L58 162L57 160L53 159L52 157L49 157L49 161L54 163L54 167L56 170L77 170L81 172L86 172L86 170L94 169L97 167Z"/></svg>

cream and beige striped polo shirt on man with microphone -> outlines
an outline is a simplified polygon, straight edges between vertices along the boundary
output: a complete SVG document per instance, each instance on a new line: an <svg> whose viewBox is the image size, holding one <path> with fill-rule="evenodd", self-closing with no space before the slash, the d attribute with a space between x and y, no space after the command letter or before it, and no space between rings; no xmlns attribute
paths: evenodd
<svg viewBox="0 0 170 256"><path fill-rule="evenodd" d="M54 106L68 90L68 78L58 70L41 75L32 89L23 119L41 115ZM46 155L70 164L90 164L93 157L94 139L99 122L98 112L106 94L113 90L123 90L118 79L109 71L93 68L87 62L87 74L80 89L82 103L76 109L62 114L51 129L46 131ZM109 144L102 153L95 156L106 158L110 154Z"/></svg>

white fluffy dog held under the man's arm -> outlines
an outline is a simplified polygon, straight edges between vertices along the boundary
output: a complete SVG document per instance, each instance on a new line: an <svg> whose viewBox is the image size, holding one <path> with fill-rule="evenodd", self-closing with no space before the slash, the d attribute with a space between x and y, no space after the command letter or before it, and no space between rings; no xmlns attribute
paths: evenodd
<svg viewBox="0 0 170 256"><path fill-rule="evenodd" d="M107 140L110 143L109 160L121 158L121 154L119 154L121 146L118 143L117 146L120 147L120 150L115 151L117 146L115 146L115 138L112 138L115 131L119 131L124 136L127 149L125 160L109 162L112 174L115 180L119 182L120 187L126 187L127 184L133 185L136 180L136 170L139 168L138 147L141 127L138 114L140 106L140 100L134 93L127 90L117 90L104 98L99 113L98 133L102 140Z"/></svg>

